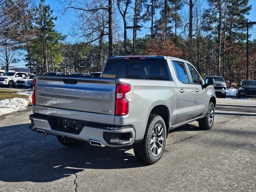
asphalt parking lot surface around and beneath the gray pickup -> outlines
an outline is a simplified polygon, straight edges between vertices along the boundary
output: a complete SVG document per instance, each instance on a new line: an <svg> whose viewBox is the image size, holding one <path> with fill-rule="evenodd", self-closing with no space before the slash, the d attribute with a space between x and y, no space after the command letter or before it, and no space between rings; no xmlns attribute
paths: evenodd
<svg viewBox="0 0 256 192"><path fill-rule="evenodd" d="M0 119L0 191L256 191L256 100L218 98L212 130L171 130L151 166L129 147L66 148L30 131L29 114Z"/></svg>

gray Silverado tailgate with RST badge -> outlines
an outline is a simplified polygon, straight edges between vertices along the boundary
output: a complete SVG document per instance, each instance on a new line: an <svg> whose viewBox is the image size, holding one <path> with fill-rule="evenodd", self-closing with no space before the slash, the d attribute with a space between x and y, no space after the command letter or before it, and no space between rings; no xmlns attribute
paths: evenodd
<svg viewBox="0 0 256 192"><path fill-rule="evenodd" d="M35 76L36 105L113 115L115 79Z"/></svg>

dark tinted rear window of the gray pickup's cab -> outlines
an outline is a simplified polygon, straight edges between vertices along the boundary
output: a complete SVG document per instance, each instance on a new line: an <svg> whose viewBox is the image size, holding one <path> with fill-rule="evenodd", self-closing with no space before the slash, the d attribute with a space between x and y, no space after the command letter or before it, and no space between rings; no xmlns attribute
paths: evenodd
<svg viewBox="0 0 256 192"><path fill-rule="evenodd" d="M102 77L170 80L165 60L109 60Z"/></svg>

